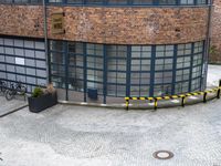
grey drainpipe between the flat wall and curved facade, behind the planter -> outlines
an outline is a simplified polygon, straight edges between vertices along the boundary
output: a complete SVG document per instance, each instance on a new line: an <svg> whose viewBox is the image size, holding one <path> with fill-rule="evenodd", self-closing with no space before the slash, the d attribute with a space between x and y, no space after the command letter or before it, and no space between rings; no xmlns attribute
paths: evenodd
<svg viewBox="0 0 221 166"><path fill-rule="evenodd" d="M49 46L48 46L48 23L46 23L46 2L43 0L43 18L44 18L44 48L45 48L45 60L46 60L46 84L50 83L50 71L49 71Z"/></svg>

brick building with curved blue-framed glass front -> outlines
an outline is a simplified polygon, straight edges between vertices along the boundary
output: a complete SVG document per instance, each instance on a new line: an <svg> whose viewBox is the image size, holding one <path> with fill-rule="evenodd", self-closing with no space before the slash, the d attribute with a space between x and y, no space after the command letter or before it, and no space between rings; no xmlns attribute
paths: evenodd
<svg viewBox="0 0 221 166"><path fill-rule="evenodd" d="M70 102L206 87L208 0L0 0L0 79Z"/></svg>

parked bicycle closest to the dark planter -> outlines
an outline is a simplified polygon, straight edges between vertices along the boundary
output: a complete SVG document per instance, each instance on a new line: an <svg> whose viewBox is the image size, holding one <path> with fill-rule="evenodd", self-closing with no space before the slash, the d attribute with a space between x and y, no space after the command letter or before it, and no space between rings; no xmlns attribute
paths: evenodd
<svg viewBox="0 0 221 166"><path fill-rule="evenodd" d="M11 84L11 87L7 90L6 92L6 98L7 101L11 101L15 95L24 95L27 93L27 87L21 84L21 82L18 82L14 86L14 84Z"/></svg>

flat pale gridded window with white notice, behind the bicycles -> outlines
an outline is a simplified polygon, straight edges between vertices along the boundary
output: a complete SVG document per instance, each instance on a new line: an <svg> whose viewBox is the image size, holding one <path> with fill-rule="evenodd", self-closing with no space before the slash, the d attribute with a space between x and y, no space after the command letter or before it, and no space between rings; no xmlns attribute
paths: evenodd
<svg viewBox="0 0 221 166"><path fill-rule="evenodd" d="M32 91L33 85L36 86L36 79L46 80L45 58L36 60L39 58L36 54L39 52L44 53L45 51L42 48L34 51L35 42L44 44L44 42L39 40L22 40L7 37L0 39L0 71L3 79L8 84L18 81L22 82L22 84L28 86L28 92Z"/></svg>

